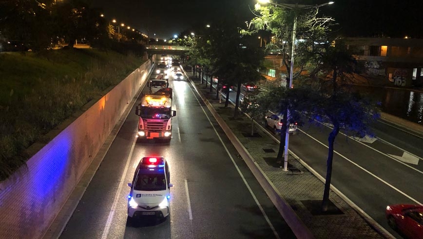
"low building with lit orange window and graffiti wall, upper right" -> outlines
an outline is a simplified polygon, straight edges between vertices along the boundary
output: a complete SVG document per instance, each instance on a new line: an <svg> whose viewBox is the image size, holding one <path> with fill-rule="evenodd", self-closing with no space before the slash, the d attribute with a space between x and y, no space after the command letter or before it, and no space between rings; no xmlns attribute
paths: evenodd
<svg viewBox="0 0 423 239"><path fill-rule="evenodd" d="M338 43L352 52L371 85L423 86L422 39L344 38Z"/></svg>

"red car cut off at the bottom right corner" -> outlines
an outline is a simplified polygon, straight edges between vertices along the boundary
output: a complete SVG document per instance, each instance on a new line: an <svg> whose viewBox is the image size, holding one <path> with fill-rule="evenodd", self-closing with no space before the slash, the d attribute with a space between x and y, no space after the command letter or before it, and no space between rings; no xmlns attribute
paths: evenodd
<svg viewBox="0 0 423 239"><path fill-rule="evenodd" d="M386 207L386 219L392 229L409 239L423 239L423 206L396 204Z"/></svg>

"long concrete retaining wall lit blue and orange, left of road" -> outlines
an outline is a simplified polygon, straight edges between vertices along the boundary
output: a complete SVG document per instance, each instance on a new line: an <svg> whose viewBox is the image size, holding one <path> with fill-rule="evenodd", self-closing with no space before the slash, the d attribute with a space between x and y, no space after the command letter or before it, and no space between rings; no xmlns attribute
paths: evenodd
<svg viewBox="0 0 423 239"><path fill-rule="evenodd" d="M147 80L151 66L147 60L100 100L88 103L59 130L52 131L50 135L55 137L50 142L31 146L34 152L39 151L26 166L0 183L1 239L37 239L45 234Z"/></svg>

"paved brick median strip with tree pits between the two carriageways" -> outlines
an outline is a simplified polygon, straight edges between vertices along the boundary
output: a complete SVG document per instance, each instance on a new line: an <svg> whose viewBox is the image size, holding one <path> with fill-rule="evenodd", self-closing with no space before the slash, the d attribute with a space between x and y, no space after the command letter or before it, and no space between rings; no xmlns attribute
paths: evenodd
<svg viewBox="0 0 423 239"><path fill-rule="evenodd" d="M274 195L269 195L269 198L275 203L298 238L380 239L392 237L375 221L366 219L363 213L356 211L353 208L354 204L347 203L348 199L340 192L331 190L328 212L319 213L324 179L316 176L317 173L291 152L288 156L288 171L283 171L280 168L281 164L276 162L279 148L277 139L257 125L254 128L259 136L250 137L250 119L242 114L239 114L237 119L233 119L234 107L231 104L228 108L224 108L224 98L222 103L219 103L219 100L215 99L215 91L209 93L209 87L206 89L205 83L201 85L198 78L194 78L190 72L187 74L195 83L202 98L206 100L206 105L212 113L217 113L216 119L222 128L224 130L228 128L230 131L226 133L235 148L237 144L241 145L237 148L240 156L246 161L256 178L258 176L260 184L265 185L263 188L268 195L272 189L275 191ZM242 152L243 150L245 152ZM266 185L269 185L269 191Z"/></svg>

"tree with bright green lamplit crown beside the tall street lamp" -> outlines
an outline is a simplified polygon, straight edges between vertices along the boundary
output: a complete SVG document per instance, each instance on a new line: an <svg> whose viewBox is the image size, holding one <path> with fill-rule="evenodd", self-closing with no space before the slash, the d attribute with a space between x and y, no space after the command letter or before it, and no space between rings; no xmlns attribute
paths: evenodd
<svg viewBox="0 0 423 239"><path fill-rule="evenodd" d="M323 45L316 44L315 42L327 42L330 26L333 24L333 20L331 18L318 17L318 8L286 10L274 5L261 6L256 4L255 11L258 14L257 17L248 23L249 29L243 31L243 34L253 35L260 30L269 31L273 35L273 39L269 44L267 44L266 49L274 50L282 54L281 66L285 67L287 75L290 72L292 26L295 18L297 19L296 39L301 40L295 42L296 55L294 67L296 71L294 72L292 78L295 79L301 76L301 73L306 69L306 66L309 68L315 66L315 64L313 64L315 55L318 55L325 50ZM289 88L290 81L293 79L287 79L286 88ZM281 132L285 132L288 122L292 122L294 120L291 117L293 114L290 114L289 119L287 117L288 107L291 104L288 99L281 99L278 102L280 102L280 105L284 107L281 108L279 112L281 112L284 116ZM294 108L289 109L289 112L291 113L294 111ZM285 135L281 134L277 159L282 159L284 149Z"/></svg>

